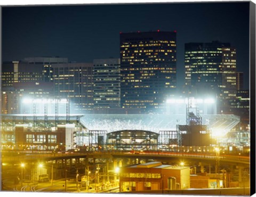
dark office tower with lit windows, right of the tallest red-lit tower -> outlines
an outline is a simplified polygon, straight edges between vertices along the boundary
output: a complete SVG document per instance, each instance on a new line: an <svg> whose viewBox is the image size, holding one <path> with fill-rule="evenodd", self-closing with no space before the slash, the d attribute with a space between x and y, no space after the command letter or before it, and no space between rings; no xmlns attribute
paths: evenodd
<svg viewBox="0 0 256 197"><path fill-rule="evenodd" d="M185 72L185 84L197 96L218 98L220 108L228 108L228 100L236 97L236 49L229 43L185 44Z"/></svg>

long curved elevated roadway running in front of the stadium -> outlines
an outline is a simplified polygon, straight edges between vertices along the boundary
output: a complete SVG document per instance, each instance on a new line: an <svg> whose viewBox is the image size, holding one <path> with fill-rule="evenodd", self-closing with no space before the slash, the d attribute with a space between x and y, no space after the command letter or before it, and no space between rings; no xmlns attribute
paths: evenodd
<svg viewBox="0 0 256 197"><path fill-rule="evenodd" d="M78 159L78 158L95 158L95 159L154 159L157 161L175 161L186 159L191 161L216 161L219 159L222 164L249 166L250 157L239 155L220 155L203 154L203 153L181 153L181 152L135 152L130 151L106 151L106 152L86 152L86 153L28 153L16 157L2 156L4 164L20 164L20 162L35 162L35 161L51 161L62 159Z"/></svg>

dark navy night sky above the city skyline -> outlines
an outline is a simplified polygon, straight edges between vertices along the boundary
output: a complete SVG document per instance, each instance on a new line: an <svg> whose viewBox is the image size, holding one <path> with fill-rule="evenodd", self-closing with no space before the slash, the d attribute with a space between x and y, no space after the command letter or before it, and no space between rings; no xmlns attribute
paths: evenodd
<svg viewBox="0 0 256 197"><path fill-rule="evenodd" d="M119 32L177 31L178 87L186 42L230 42L249 89L249 2L3 7L2 61L119 58Z"/></svg>

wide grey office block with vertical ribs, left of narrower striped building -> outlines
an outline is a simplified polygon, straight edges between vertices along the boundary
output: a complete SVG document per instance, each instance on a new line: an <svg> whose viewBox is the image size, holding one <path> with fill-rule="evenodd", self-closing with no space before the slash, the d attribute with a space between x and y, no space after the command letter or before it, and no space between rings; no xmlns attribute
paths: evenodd
<svg viewBox="0 0 256 197"><path fill-rule="evenodd" d="M93 109L93 64L52 64L54 92L57 98L67 98L70 113L85 113Z"/></svg>

